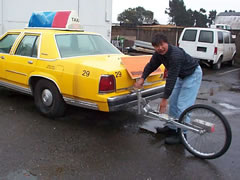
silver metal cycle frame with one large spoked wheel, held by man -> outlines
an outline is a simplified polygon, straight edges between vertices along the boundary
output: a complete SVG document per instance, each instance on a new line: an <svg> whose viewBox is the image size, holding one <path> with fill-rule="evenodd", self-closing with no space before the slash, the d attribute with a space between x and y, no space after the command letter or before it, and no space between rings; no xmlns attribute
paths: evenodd
<svg viewBox="0 0 240 180"><path fill-rule="evenodd" d="M201 159L215 159L222 156L232 141L231 127L224 115L217 109L195 104L187 108L179 117L172 118L153 110L137 90L138 114L144 113L148 118L158 119L177 127L184 147Z"/></svg>

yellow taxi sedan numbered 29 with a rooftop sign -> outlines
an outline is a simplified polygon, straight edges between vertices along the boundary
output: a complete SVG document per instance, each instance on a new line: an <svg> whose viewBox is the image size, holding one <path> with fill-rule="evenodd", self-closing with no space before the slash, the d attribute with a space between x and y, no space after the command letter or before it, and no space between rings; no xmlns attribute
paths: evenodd
<svg viewBox="0 0 240 180"><path fill-rule="evenodd" d="M68 16L79 23L71 12ZM123 59L143 57L128 57L101 35L74 29L74 24L66 28L69 22L59 21L59 27L57 23L34 27L30 22L27 28L10 30L0 38L1 86L33 95L38 110L48 117L64 115L66 104L109 112L137 103L136 93L130 91L135 78ZM147 78L143 97L162 95L163 73L161 66L159 73Z"/></svg>

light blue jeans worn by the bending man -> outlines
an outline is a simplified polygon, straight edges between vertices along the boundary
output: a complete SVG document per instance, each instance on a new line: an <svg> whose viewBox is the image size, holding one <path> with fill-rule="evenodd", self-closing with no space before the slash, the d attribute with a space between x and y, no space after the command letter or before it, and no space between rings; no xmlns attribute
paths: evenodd
<svg viewBox="0 0 240 180"><path fill-rule="evenodd" d="M187 76L184 79L177 78L169 100L170 116L173 118L179 118L185 109L195 103L201 81L202 69L200 66L198 66L190 76ZM172 129L176 129L173 125L166 125Z"/></svg>

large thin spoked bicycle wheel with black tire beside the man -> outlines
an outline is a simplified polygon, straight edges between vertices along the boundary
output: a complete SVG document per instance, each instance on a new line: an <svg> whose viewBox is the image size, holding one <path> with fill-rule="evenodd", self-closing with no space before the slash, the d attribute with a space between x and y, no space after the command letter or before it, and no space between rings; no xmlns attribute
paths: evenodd
<svg viewBox="0 0 240 180"><path fill-rule="evenodd" d="M186 118L190 120L190 123L185 122ZM203 121L199 125L198 123L201 120ZM185 148L198 158L218 158L231 145L232 131L228 121L221 112L211 106L204 104L193 105L181 114L179 122L205 131L203 134L199 134L190 130L179 130ZM210 124L205 125L204 123Z"/></svg>

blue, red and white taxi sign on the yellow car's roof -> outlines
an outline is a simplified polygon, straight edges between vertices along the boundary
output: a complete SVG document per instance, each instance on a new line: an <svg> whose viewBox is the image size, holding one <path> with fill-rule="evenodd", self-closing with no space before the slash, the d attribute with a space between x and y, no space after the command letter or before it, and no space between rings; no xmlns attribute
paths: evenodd
<svg viewBox="0 0 240 180"><path fill-rule="evenodd" d="M29 20L28 27L81 29L76 11L34 12Z"/></svg>

